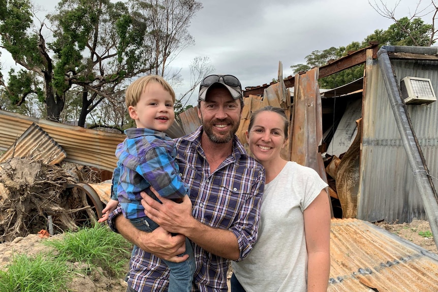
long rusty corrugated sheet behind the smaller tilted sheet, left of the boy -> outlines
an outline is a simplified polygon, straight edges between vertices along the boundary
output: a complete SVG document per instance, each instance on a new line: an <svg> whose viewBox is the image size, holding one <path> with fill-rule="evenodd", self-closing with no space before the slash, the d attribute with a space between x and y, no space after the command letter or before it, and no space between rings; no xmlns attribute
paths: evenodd
<svg viewBox="0 0 438 292"><path fill-rule="evenodd" d="M35 123L64 149L67 153L64 160L111 172L117 162L114 155L117 144L126 137L122 134L70 126L5 111L0 111L0 120L2 121L0 150L11 147L17 137Z"/></svg>

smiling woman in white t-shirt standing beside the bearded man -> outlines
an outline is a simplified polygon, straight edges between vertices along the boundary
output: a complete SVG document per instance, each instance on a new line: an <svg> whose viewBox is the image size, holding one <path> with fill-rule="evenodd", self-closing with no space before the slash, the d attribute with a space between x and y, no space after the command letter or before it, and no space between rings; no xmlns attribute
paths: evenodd
<svg viewBox="0 0 438 292"><path fill-rule="evenodd" d="M281 108L254 112L246 139L264 166L266 185L259 236L241 262L233 262L231 291L327 291L330 207L318 173L280 157L288 138Z"/></svg>

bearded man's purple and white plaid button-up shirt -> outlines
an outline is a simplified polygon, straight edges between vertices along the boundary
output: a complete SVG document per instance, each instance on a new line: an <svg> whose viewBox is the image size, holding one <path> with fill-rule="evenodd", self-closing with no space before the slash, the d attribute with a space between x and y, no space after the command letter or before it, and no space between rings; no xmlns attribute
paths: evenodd
<svg viewBox="0 0 438 292"><path fill-rule="evenodd" d="M200 222L230 230L237 238L240 257L246 257L257 240L260 204L264 189L263 167L247 155L237 137L233 153L213 172L201 147L202 126L194 133L175 140L176 161L183 180L189 185L193 216ZM114 218L109 224L117 232ZM193 243L196 270L193 291L227 292L229 259L216 256ZM161 259L137 248L131 258L129 284L138 292L167 291L169 269Z"/></svg>

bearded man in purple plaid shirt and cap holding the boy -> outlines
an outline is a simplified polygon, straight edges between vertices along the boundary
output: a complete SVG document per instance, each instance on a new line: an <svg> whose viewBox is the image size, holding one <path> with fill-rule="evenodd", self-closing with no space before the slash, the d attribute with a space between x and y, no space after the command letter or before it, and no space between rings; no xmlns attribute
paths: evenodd
<svg viewBox="0 0 438 292"><path fill-rule="evenodd" d="M131 258L127 291L166 291L169 271L161 258L185 261L186 255L177 256L185 250L184 236L193 242L194 290L228 291L230 260L245 258L257 239L265 180L262 166L235 135L242 109L236 77L205 77L198 100L202 126L175 140L176 161L190 199L177 204L158 196L160 204L142 192L146 216L160 225L151 233L138 231L118 216L119 207L111 213L111 228L140 247Z"/></svg>

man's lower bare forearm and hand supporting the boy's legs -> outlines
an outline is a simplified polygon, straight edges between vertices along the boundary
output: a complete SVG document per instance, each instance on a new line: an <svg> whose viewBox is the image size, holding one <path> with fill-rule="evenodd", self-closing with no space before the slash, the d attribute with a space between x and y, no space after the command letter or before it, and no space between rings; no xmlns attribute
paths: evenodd
<svg viewBox="0 0 438 292"><path fill-rule="evenodd" d="M182 235L172 236L161 227L150 233L140 231L128 219L121 216L120 206L110 214L108 222L113 231L120 233L146 252L175 263L187 259L188 255L178 256L185 251L185 238Z"/></svg>

